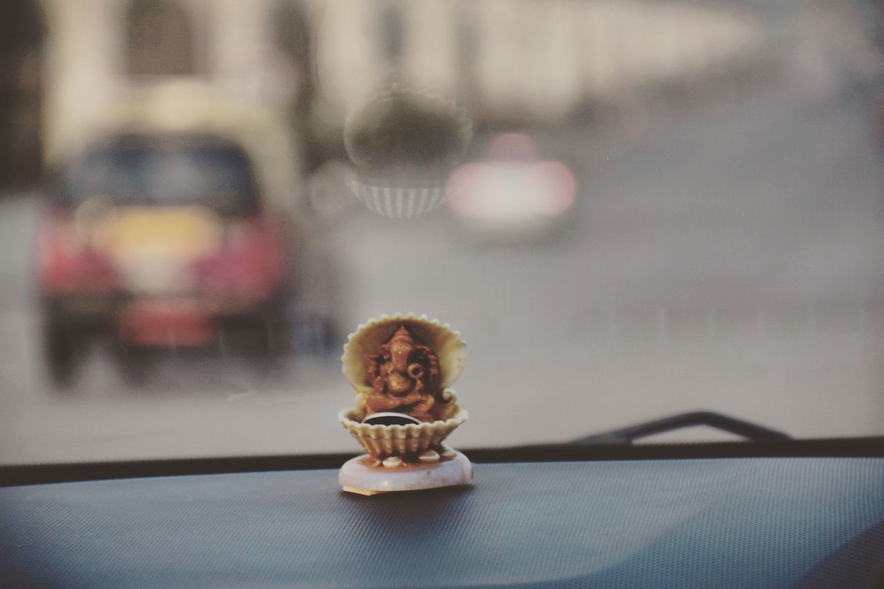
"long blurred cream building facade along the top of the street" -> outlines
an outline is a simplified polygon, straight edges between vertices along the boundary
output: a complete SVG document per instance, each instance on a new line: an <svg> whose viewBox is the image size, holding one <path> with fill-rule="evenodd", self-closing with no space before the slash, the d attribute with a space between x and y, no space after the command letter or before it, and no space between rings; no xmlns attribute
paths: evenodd
<svg viewBox="0 0 884 589"><path fill-rule="evenodd" d="M199 115L205 105L187 112L185 85L286 121L295 147L308 147L269 156L278 165L333 149L322 143L339 142L351 104L391 79L454 96L479 122L549 122L649 80L738 62L759 44L751 18L696 3L39 1L50 162L117 124L122 103L143 111L165 93L180 112L160 118Z"/></svg>

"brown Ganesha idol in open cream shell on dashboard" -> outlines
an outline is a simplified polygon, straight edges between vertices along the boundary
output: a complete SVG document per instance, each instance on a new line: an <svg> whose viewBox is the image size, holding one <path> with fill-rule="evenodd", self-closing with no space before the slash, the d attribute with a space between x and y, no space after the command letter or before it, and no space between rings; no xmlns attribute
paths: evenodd
<svg viewBox="0 0 884 589"><path fill-rule="evenodd" d="M341 425L365 449L341 468L345 491L385 493L469 483L472 465L446 446L467 419L451 385L466 345L448 325L413 314L360 325L344 347L344 376L355 406Z"/></svg>

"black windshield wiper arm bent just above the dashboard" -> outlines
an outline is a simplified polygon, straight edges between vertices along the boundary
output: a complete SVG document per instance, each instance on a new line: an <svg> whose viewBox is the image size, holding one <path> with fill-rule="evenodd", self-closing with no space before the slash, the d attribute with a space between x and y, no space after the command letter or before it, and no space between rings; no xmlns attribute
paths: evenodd
<svg viewBox="0 0 884 589"><path fill-rule="evenodd" d="M714 411L690 411L678 415L663 417L645 421L641 424L621 427L611 432L598 433L595 435L573 440L572 444L632 444L635 440L652 436L656 433L674 432L685 427L695 425L708 425L723 432L735 433L747 440L765 442L791 440L792 438L783 432L777 432L762 425L753 424L750 421L728 417Z"/></svg>

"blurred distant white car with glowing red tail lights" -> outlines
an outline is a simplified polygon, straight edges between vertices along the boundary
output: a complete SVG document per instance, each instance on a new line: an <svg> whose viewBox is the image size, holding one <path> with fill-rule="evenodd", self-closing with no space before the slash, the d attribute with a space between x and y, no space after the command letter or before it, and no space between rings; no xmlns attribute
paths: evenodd
<svg viewBox="0 0 884 589"><path fill-rule="evenodd" d="M565 164L542 161L524 134L500 134L484 162L463 164L448 181L454 213L477 237L522 240L560 226L575 201Z"/></svg>

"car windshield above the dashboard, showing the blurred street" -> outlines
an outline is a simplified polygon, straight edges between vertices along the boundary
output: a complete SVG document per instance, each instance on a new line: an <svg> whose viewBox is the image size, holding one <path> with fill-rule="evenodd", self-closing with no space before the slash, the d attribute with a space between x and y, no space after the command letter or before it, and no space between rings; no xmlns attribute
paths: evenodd
<svg viewBox="0 0 884 589"><path fill-rule="evenodd" d="M880 3L0 4L0 463L355 453L409 312L456 447L884 434Z"/></svg>

